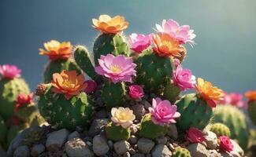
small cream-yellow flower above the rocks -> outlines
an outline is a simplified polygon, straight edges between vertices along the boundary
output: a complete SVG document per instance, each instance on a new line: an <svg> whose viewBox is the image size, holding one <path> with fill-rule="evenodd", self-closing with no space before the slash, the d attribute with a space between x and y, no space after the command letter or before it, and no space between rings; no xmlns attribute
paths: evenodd
<svg viewBox="0 0 256 157"><path fill-rule="evenodd" d="M112 108L111 109L111 120L116 126L122 126L124 129L132 125L132 121L135 120L133 111L129 108Z"/></svg>

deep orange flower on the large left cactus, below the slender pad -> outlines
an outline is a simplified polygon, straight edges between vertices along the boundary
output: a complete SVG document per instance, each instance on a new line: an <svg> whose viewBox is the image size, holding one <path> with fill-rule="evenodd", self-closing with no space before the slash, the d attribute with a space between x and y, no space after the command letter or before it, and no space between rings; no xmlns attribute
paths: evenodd
<svg viewBox="0 0 256 157"><path fill-rule="evenodd" d="M64 93L67 100L80 94L80 91L87 87L83 75L76 76L76 71L61 71L61 74L54 73L51 85L54 86L52 88L54 93Z"/></svg>

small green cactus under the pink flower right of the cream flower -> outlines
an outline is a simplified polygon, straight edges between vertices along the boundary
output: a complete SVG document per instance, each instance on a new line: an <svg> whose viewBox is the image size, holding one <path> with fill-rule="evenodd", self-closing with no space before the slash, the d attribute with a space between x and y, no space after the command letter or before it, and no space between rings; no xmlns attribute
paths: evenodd
<svg viewBox="0 0 256 157"><path fill-rule="evenodd" d="M151 121L151 115L146 114L141 119L141 124L139 127L139 134L141 137L154 139L156 137L165 136L168 131L167 126L159 126Z"/></svg>

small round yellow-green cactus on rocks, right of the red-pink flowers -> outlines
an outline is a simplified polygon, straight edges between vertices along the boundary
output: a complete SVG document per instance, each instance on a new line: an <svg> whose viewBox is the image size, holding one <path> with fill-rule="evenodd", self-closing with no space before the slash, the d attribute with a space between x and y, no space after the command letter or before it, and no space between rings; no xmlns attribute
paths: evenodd
<svg viewBox="0 0 256 157"><path fill-rule="evenodd" d="M225 126L220 122L214 123L212 126L210 126L210 131L212 131L213 133L216 133L218 137L220 136L230 137L230 130L228 129L228 126Z"/></svg>

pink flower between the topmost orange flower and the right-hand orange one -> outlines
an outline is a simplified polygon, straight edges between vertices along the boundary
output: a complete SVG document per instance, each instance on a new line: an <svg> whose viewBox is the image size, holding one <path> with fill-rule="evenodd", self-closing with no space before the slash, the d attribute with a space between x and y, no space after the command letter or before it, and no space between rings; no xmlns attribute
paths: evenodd
<svg viewBox="0 0 256 157"><path fill-rule="evenodd" d="M151 45L152 35L132 33L128 38L128 42L130 43L130 48L134 50L135 53L141 53Z"/></svg>

